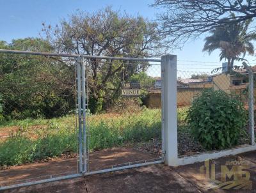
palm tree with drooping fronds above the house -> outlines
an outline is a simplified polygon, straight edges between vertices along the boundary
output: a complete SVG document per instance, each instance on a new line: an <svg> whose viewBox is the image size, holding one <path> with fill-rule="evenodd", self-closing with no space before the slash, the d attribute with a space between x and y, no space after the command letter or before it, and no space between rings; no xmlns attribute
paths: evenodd
<svg viewBox="0 0 256 193"><path fill-rule="evenodd" d="M256 39L256 33L248 33L252 20L234 22L225 26L216 27L210 31L211 36L205 38L203 51L209 52L220 49L220 61L227 59L228 69L234 65L236 59L244 58L246 53L254 54L251 42Z"/></svg>

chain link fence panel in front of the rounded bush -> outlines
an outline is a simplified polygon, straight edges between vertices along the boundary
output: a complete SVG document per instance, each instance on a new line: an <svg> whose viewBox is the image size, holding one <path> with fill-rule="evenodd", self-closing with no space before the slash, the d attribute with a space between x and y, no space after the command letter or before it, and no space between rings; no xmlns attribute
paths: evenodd
<svg viewBox="0 0 256 193"><path fill-rule="evenodd" d="M207 67L177 66L179 156L250 143L248 71Z"/></svg>

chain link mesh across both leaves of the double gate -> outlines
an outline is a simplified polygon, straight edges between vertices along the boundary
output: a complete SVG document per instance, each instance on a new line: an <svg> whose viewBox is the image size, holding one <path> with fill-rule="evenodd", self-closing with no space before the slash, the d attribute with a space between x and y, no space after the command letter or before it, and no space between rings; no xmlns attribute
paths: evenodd
<svg viewBox="0 0 256 193"><path fill-rule="evenodd" d="M1 187L163 162L159 62L29 54L0 55Z"/></svg>

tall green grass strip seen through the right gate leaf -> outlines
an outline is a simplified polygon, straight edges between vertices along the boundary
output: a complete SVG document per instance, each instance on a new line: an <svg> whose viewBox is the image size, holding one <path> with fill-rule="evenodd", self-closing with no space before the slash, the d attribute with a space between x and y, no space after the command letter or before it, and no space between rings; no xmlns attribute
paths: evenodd
<svg viewBox="0 0 256 193"><path fill-rule="evenodd" d="M90 149L102 149L125 142L148 141L161 137L161 111L145 109L136 114L122 114L118 118L108 117L90 120Z"/></svg>

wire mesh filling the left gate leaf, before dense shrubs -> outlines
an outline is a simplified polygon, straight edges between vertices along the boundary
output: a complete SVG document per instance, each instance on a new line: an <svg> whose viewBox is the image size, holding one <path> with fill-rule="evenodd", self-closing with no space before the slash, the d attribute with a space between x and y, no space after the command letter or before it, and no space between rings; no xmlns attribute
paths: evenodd
<svg viewBox="0 0 256 193"><path fill-rule="evenodd" d="M63 59L0 55L0 186L77 173L76 71Z"/></svg>

